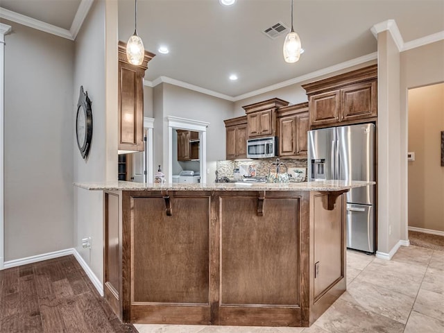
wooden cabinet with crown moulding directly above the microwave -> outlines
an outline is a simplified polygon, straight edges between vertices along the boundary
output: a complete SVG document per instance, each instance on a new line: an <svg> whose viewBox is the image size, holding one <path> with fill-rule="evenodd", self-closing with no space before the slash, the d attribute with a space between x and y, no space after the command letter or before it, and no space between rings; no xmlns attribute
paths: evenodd
<svg viewBox="0 0 444 333"><path fill-rule="evenodd" d="M243 106L247 114L248 139L276 136L276 111L287 105L289 102L282 99L268 99Z"/></svg>

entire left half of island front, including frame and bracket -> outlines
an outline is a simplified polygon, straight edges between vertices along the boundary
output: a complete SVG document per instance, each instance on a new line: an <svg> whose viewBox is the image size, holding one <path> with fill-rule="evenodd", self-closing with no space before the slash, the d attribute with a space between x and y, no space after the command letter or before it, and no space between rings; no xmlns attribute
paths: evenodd
<svg viewBox="0 0 444 333"><path fill-rule="evenodd" d="M123 321L210 323L210 192L122 196Z"/></svg>

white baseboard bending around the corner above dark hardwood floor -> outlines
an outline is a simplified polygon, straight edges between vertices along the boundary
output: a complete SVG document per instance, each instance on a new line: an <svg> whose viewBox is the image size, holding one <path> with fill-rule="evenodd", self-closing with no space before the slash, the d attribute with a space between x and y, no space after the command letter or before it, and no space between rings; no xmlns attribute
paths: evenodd
<svg viewBox="0 0 444 333"><path fill-rule="evenodd" d="M42 262L44 260L63 257L65 255L74 255L78 264L80 264L80 266L83 268L83 271L85 271L89 280L92 282L97 291L99 291L100 295L103 296L102 282L99 280L99 278L96 277L92 269L89 268L88 264L85 262L83 257L80 255L80 253L77 252L75 248L67 248L65 250L43 253L42 255L33 255L31 257L9 260L8 262L4 262L3 269L27 265L27 264L34 264L35 262Z"/></svg>

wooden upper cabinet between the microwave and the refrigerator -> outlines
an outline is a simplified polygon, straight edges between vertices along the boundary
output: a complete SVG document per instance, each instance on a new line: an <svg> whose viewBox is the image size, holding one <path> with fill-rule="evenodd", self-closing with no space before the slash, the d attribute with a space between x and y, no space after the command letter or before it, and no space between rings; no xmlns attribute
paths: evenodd
<svg viewBox="0 0 444 333"><path fill-rule="evenodd" d="M309 129L308 103L278 110L279 156L306 157Z"/></svg>

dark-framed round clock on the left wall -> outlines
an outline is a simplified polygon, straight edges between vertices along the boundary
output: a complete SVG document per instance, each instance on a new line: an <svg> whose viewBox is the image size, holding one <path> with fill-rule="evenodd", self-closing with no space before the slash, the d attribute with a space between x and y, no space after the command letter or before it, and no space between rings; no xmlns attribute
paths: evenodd
<svg viewBox="0 0 444 333"><path fill-rule="evenodd" d="M78 96L76 135L80 155L82 155L83 158L86 158L89 153L89 148L91 147L92 110L91 100L88 98L88 93L83 92L83 86L80 86L80 96Z"/></svg>

